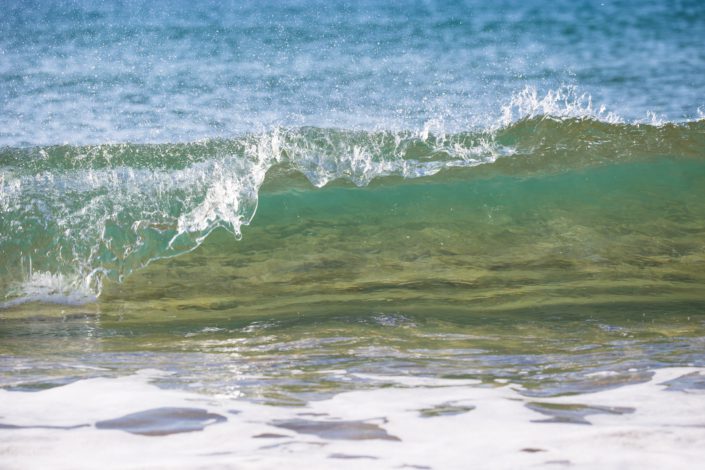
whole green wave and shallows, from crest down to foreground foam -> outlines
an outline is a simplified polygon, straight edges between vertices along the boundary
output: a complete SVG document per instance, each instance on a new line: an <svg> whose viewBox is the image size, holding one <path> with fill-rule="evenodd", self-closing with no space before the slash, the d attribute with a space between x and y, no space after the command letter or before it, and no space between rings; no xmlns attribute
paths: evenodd
<svg viewBox="0 0 705 470"><path fill-rule="evenodd" d="M653 367L702 365L701 123L532 118L444 139L321 129L276 135L280 159L258 191L233 176L215 192L232 194L231 206L210 199L203 175L193 186L169 186L160 175L183 171L194 147L212 163L219 149L237 151L243 141L104 147L117 161L76 158L84 147L48 148L44 159L31 158L42 150L8 152L22 161L15 177L42 183L32 211L16 210L16 220L31 227L37 207L60 204L58 215L76 225L62 233L61 217L45 220L41 237L25 233L5 245L5 259L14 255L20 266L29 250L58 253L46 264L35 257L25 283L10 284L1 330L6 385L44 388L94 376L94 368L122 374L160 364L178 372L169 379L177 384L300 403L365 386L338 383L325 372L331 368L509 377L566 393L591 390L596 371L629 383ZM329 160L300 157L302 138ZM273 145L272 135L254 141ZM488 153L462 153L480 141ZM353 143L366 145L369 159L355 164L334 153ZM506 155L491 153L510 146ZM159 159L142 167L139 157L150 154ZM219 168L229 158L216 160ZM63 199L22 176L42 165L61 165L53 188ZM85 186L82 166L100 185ZM365 181L371 171L386 176ZM327 178L336 179L312 184ZM105 197L116 185L122 191ZM66 191L71 186L77 190ZM96 210L72 219L86 200ZM191 212L234 214L204 217L201 230L181 234L188 201ZM149 224L135 217L155 207L169 212ZM102 233L87 238L96 228ZM95 300L91 291L66 290L76 285L67 279L87 272L74 270L77 261L102 269ZM240 383L235 364L262 379ZM311 375L291 375L300 369Z"/></svg>

